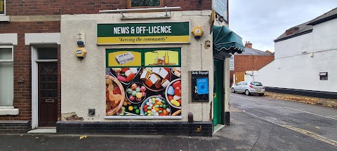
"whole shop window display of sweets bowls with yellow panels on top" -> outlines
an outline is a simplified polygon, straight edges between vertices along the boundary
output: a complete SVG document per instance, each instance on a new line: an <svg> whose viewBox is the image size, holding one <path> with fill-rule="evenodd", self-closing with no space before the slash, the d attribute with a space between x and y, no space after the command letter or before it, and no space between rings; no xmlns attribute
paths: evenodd
<svg viewBox="0 0 337 151"><path fill-rule="evenodd" d="M107 116L181 115L180 48L106 52Z"/></svg>

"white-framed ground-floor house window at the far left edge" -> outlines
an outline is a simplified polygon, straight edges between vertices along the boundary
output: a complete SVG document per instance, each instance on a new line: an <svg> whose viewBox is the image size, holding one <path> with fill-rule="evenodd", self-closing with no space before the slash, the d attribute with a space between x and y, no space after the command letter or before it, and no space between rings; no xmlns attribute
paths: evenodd
<svg viewBox="0 0 337 151"><path fill-rule="evenodd" d="M0 45L0 106L13 106L13 46Z"/></svg>

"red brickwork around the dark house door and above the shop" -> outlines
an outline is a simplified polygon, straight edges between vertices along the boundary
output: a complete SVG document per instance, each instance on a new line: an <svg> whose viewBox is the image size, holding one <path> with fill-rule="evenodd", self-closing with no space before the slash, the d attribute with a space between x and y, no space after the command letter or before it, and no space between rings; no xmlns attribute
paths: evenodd
<svg viewBox="0 0 337 151"><path fill-rule="evenodd" d="M200 1L200 2L199 2ZM210 10L211 0L165 0L165 6L180 6L183 10ZM99 10L126 8L126 0L8 0L6 15L62 15L91 14ZM31 46L25 45L26 33L59 33L60 21L48 22L0 22L0 34L17 33L18 45L14 45L14 108L19 115L0 116L0 120L32 119L32 62ZM58 118L60 120L60 45L58 45ZM18 78L25 79L18 83ZM30 126L29 126L30 127Z"/></svg>

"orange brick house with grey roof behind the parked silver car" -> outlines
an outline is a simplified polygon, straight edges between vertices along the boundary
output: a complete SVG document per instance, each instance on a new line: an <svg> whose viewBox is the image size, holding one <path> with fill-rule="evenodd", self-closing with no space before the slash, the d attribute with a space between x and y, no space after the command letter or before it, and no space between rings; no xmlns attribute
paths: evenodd
<svg viewBox="0 0 337 151"><path fill-rule="evenodd" d="M244 52L232 55L230 83L243 81L246 71L257 71L273 60L274 54L272 52L253 49L253 43L246 41Z"/></svg>

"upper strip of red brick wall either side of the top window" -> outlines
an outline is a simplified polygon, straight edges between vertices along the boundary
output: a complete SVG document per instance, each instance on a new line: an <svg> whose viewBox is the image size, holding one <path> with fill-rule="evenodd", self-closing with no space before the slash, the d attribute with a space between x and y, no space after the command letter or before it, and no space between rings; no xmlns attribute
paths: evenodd
<svg viewBox="0 0 337 151"><path fill-rule="evenodd" d="M199 2L200 1L200 2ZM211 0L165 0L164 6L183 10L211 10ZM126 0L8 0L6 15L93 14L99 10L125 9Z"/></svg>

